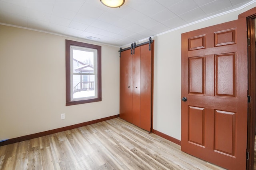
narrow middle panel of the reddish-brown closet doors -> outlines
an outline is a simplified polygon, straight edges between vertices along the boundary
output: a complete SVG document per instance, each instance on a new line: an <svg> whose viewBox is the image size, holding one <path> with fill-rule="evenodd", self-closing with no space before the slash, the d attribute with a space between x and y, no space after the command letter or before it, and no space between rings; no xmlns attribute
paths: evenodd
<svg viewBox="0 0 256 170"><path fill-rule="evenodd" d="M140 127L140 47L133 54L132 123Z"/></svg>

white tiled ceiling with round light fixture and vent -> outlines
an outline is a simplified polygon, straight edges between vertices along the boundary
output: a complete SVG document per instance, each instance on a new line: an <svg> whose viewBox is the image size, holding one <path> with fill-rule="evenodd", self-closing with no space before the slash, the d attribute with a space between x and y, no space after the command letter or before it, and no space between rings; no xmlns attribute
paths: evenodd
<svg viewBox="0 0 256 170"><path fill-rule="evenodd" d="M125 0L108 8L100 0L0 0L0 23L123 46L252 2Z"/></svg>

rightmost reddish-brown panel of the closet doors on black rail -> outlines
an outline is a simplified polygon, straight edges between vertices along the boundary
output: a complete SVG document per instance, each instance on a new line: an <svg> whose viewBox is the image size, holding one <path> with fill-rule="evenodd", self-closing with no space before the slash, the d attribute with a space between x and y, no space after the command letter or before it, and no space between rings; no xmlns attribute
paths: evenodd
<svg viewBox="0 0 256 170"><path fill-rule="evenodd" d="M151 132L152 51L148 50L148 44L140 47L140 127Z"/></svg>

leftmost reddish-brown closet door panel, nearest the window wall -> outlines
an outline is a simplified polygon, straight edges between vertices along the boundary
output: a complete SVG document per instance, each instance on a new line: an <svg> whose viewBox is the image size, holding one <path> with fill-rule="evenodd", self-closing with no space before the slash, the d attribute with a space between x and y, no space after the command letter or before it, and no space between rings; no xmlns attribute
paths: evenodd
<svg viewBox="0 0 256 170"><path fill-rule="evenodd" d="M132 54L122 52L120 57L120 118L132 123Z"/></svg>

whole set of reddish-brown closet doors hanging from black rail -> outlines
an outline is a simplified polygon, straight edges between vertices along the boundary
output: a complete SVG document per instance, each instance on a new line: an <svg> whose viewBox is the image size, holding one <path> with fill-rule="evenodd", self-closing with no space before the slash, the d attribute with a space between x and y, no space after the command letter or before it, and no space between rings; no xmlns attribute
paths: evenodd
<svg viewBox="0 0 256 170"><path fill-rule="evenodd" d="M120 118L151 132L154 41L120 55ZM135 46L135 45L134 45Z"/></svg>

